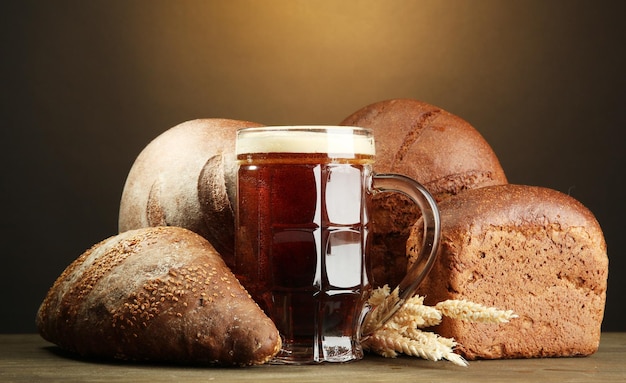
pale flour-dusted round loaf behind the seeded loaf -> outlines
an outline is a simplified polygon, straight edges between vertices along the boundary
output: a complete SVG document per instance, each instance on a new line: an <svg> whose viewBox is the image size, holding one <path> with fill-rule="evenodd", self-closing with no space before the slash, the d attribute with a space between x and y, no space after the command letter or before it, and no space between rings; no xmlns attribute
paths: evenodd
<svg viewBox="0 0 626 383"><path fill-rule="evenodd" d="M232 267L235 136L260 124L231 119L183 122L137 156L122 192L119 231L179 226L208 239Z"/></svg>

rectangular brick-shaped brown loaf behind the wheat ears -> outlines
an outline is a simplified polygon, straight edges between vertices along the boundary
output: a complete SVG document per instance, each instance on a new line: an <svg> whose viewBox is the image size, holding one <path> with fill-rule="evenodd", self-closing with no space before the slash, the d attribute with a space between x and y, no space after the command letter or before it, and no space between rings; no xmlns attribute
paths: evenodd
<svg viewBox="0 0 626 383"><path fill-rule="evenodd" d="M439 257L418 293L513 310L505 325L444 319L436 332L467 359L589 355L600 341L608 277L593 214L558 191L522 185L468 190L439 205ZM411 232L416 256L421 225Z"/></svg>

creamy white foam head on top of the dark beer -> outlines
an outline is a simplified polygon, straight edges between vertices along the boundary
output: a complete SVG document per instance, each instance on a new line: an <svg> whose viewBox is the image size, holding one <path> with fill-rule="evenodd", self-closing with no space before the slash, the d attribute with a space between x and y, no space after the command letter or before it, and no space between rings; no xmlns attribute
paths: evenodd
<svg viewBox="0 0 626 383"><path fill-rule="evenodd" d="M352 126L266 126L237 132L237 154L329 153L374 155L371 130Z"/></svg>

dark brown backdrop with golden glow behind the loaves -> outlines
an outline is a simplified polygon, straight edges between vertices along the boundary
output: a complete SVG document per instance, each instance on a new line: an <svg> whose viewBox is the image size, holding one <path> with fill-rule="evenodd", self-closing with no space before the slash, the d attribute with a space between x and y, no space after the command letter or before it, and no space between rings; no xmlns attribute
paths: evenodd
<svg viewBox="0 0 626 383"><path fill-rule="evenodd" d="M512 183L583 202L626 294L626 2L5 1L1 332L33 332L61 271L116 234L128 170L186 120L336 124L415 98L472 123Z"/></svg>

